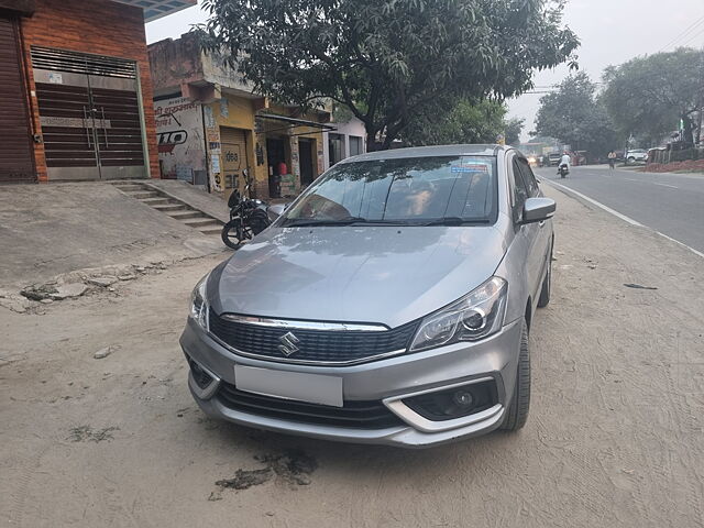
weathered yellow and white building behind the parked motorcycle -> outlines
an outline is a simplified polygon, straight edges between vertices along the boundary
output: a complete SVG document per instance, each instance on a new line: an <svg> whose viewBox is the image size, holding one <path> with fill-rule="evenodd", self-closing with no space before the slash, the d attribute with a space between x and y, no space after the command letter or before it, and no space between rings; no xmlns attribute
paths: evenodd
<svg viewBox="0 0 704 528"><path fill-rule="evenodd" d="M326 167L329 109L300 114L253 92L193 34L148 46L162 177L223 196L295 196ZM245 177L246 176L246 177Z"/></svg>

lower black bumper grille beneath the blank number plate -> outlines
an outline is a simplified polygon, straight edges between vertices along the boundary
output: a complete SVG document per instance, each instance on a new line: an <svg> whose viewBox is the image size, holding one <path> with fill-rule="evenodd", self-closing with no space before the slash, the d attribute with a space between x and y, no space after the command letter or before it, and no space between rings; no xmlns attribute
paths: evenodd
<svg viewBox="0 0 704 528"><path fill-rule="evenodd" d="M381 402L344 402L343 407L331 407L246 393L226 382L220 383L217 397L232 410L301 424L354 429L385 429L404 425Z"/></svg>

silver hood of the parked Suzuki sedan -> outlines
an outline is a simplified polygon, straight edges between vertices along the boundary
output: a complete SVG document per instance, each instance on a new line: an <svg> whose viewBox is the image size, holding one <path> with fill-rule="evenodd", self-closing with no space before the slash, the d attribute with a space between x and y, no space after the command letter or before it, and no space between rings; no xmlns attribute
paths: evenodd
<svg viewBox="0 0 704 528"><path fill-rule="evenodd" d="M218 314L404 324L491 277L506 251L494 227L270 228L218 266Z"/></svg>

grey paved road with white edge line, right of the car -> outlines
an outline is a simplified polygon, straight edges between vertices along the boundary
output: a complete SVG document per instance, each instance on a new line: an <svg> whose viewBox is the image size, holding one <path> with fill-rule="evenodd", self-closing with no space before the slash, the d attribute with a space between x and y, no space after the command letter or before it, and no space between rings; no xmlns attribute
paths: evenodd
<svg viewBox="0 0 704 528"><path fill-rule="evenodd" d="M704 176L656 174L607 166L573 167L565 179L553 168L538 175L704 252Z"/></svg>

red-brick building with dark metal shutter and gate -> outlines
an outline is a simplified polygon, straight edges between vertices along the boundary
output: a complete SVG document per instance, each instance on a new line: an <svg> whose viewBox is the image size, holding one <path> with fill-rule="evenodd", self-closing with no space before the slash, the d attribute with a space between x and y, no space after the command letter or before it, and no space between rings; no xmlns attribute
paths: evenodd
<svg viewBox="0 0 704 528"><path fill-rule="evenodd" d="M0 183L158 177L144 22L196 0L0 0Z"/></svg>

